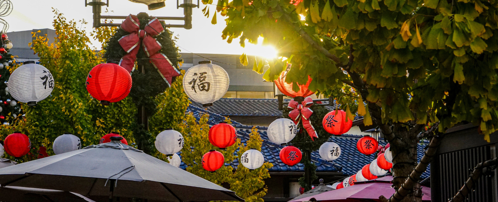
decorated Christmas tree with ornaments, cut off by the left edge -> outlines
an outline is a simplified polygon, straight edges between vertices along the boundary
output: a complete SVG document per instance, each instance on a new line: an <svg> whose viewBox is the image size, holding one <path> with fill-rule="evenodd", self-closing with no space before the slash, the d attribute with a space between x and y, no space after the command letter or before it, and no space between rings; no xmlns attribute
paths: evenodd
<svg viewBox="0 0 498 202"><path fill-rule="evenodd" d="M8 93L7 83L12 71L18 66L13 56L9 53L12 42L8 40L7 34L1 33L0 47L0 123L10 124L19 115L22 115L20 103Z"/></svg>

